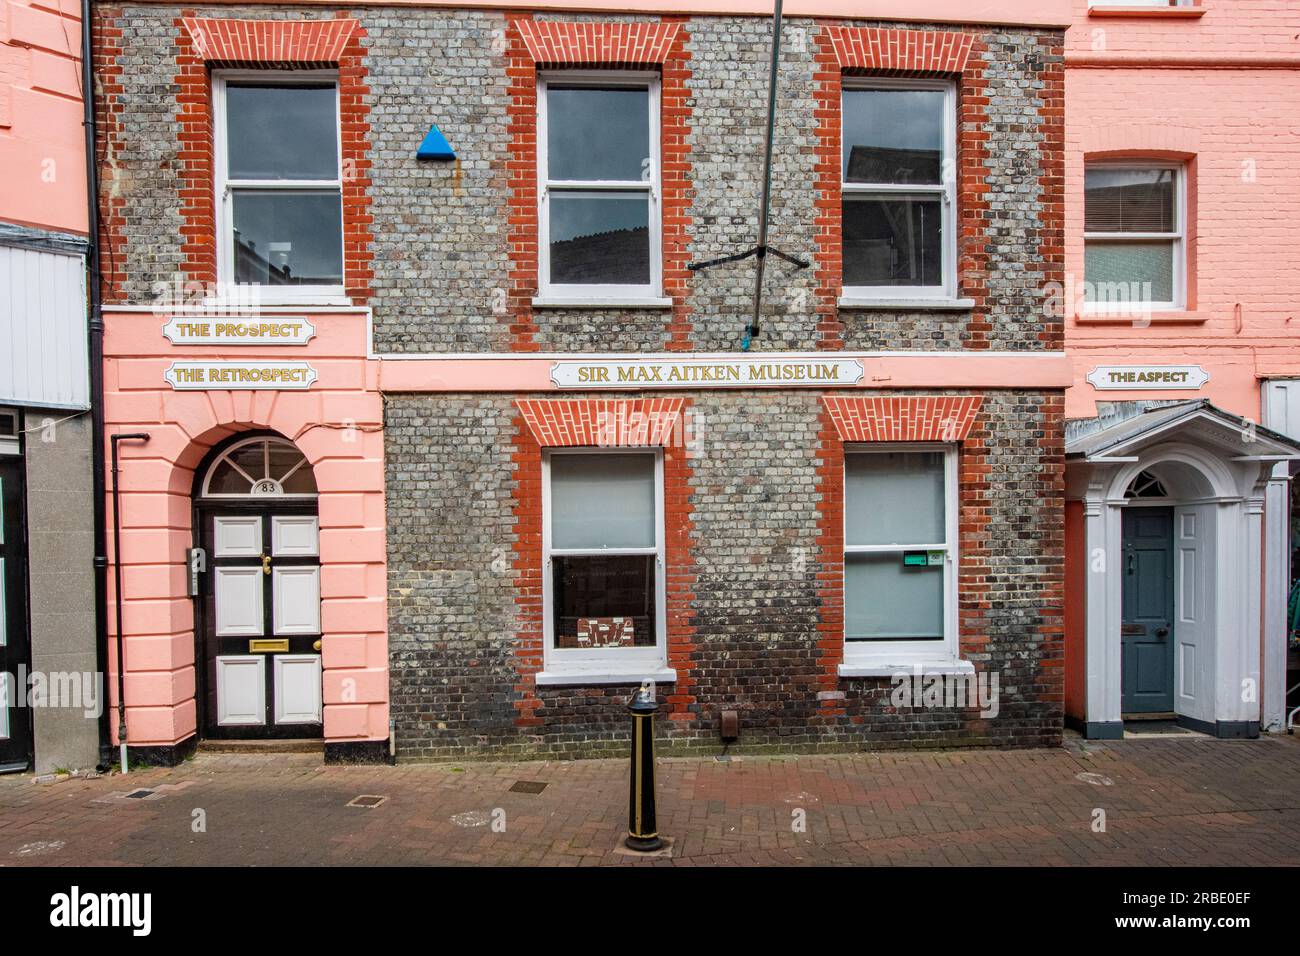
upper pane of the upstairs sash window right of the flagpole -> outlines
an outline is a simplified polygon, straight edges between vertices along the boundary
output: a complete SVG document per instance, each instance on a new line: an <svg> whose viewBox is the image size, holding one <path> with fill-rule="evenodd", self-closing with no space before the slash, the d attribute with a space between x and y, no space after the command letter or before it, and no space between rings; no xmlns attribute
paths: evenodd
<svg viewBox="0 0 1300 956"><path fill-rule="evenodd" d="M844 181L937 183L942 90L845 90Z"/></svg>

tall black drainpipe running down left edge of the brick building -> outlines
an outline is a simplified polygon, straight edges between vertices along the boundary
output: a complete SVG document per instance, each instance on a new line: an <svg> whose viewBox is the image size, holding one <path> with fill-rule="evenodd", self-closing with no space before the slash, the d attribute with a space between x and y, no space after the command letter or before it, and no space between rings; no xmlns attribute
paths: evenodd
<svg viewBox="0 0 1300 956"><path fill-rule="evenodd" d="M91 52L91 3L81 0L82 8L82 127L86 133L86 232L90 238L87 285L90 287L90 323L87 351L90 352L90 434L91 434L91 486L95 507L95 665L108 676L108 533L104 527L104 302L100 295L99 258L99 168L95 163L95 64ZM99 762L112 761L109 740L110 717L108 706L99 715Z"/></svg>

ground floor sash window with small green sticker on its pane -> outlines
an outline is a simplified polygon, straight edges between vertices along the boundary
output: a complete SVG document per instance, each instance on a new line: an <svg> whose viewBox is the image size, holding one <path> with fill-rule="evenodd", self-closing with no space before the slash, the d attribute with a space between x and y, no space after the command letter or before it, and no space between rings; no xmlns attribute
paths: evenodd
<svg viewBox="0 0 1300 956"><path fill-rule="evenodd" d="M848 449L845 663L956 659L956 450Z"/></svg>

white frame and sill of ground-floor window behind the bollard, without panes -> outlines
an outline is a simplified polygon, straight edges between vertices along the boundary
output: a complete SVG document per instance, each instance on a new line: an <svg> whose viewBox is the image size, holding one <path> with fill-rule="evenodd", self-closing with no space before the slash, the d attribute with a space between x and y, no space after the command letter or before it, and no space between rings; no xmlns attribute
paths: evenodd
<svg viewBox="0 0 1300 956"><path fill-rule="evenodd" d="M654 548L552 548L551 546L551 460L558 455L653 455L654 457ZM663 450L598 449L589 446L545 449L542 453L542 640L543 670L538 684L621 684L676 679L668 661L668 601L664 562ZM642 648L556 648L554 617L552 558L601 555L654 555L655 559L655 643Z"/></svg>

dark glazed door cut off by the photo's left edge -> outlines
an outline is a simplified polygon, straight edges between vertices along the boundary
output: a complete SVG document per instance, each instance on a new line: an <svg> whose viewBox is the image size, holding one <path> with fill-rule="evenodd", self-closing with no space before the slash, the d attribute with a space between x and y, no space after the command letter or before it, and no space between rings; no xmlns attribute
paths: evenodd
<svg viewBox="0 0 1300 956"><path fill-rule="evenodd" d="M23 770L31 757L31 711L18 706L29 666L25 557L22 459L0 457L0 771Z"/></svg>

